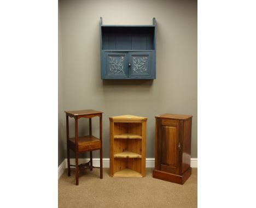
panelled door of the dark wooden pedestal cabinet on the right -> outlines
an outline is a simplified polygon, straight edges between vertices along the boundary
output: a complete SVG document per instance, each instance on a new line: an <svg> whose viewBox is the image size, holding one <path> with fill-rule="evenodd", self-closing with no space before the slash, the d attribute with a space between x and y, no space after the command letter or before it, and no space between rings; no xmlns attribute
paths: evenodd
<svg viewBox="0 0 256 208"><path fill-rule="evenodd" d="M162 119L159 127L160 170L179 174L179 121Z"/></svg>

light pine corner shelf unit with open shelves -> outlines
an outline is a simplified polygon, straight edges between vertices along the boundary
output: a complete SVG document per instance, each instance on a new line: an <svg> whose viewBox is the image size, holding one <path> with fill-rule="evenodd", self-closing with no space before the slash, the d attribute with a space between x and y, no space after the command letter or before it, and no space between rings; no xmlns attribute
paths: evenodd
<svg viewBox="0 0 256 208"><path fill-rule="evenodd" d="M135 115L109 117L109 175L142 178L146 175L147 118Z"/></svg>

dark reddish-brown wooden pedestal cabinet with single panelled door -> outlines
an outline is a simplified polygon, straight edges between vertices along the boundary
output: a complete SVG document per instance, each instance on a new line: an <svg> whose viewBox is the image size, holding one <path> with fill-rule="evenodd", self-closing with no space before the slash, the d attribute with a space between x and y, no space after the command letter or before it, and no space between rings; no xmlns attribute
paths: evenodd
<svg viewBox="0 0 256 208"><path fill-rule="evenodd" d="M183 184L191 175L191 115L155 117L155 169L153 178Z"/></svg>

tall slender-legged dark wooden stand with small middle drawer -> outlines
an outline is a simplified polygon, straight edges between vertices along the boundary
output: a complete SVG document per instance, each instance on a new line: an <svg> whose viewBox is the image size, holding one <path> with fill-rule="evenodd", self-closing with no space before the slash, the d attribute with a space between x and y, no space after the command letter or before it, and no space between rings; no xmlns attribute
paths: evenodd
<svg viewBox="0 0 256 208"><path fill-rule="evenodd" d="M69 149L75 152L75 185L78 185L79 168L98 168L92 166L92 151L100 150L100 178L102 179L102 113L95 110L80 110L80 111L65 111L66 113L66 126L67 126L67 162L68 162L68 176L70 176ZM68 117L75 119L75 137L69 138L69 125ZM100 117L100 139L92 136L91 118ZM78 137L78 119L89 118L89 135ZM78 165L78 155L81 152L90 151L90 161Z"/></svg>

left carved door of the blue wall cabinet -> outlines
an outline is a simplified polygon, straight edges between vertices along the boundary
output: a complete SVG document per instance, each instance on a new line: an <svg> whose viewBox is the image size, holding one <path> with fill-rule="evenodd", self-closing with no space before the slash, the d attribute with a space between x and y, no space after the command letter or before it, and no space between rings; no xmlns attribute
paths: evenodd
<svg viewBox="0 0 256 208"><path fill-rule="evenodd" d="M128 58L124 52L105 52L104 78L127 78Z"/></svg>

